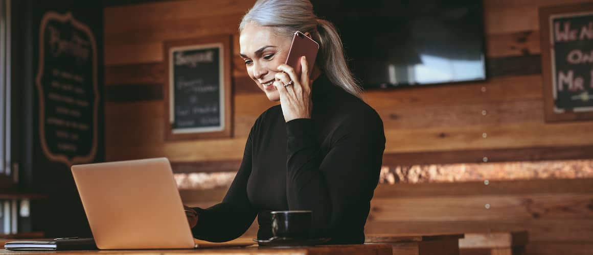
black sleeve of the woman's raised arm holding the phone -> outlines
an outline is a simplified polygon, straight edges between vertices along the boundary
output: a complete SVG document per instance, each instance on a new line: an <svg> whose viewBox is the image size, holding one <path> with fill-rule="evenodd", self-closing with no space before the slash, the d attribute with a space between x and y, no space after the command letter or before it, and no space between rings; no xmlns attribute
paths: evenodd
<svg viewBox="0 0 593 255"><path fill-rule="evenodd" d="M380 117L374 113L357 118L336 128L323 159L318 158L315 120L286 123L289 208L313 211L314 234L332 236L333 243L364 242L362 228L385 149ZM347 236L352 233L359 233L355 240Z"/></svg>

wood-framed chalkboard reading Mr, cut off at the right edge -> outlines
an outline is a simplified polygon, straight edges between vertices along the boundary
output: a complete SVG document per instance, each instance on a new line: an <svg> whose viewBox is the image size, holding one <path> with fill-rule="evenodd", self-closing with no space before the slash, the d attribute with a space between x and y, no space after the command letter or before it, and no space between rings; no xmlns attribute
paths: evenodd
<svg viewBox="0 0 593 255"><path fill-rule="evenodd" d="M546 120L593 119L593 5L542 8L540 23Z"/></svg>

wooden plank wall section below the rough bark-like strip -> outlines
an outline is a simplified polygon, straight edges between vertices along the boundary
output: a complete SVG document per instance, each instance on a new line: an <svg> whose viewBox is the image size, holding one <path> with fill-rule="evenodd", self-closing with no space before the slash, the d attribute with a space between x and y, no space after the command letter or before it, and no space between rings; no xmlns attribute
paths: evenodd
<svg viewBox="0 0 593 255"><path fill-rule="evenodd" d="M365 233L527 230L527 254L591 254L592 184L593 179L379 185ZM185 204L208 207L225 192L181 191L181 197ZM244 237L256 234L257 222Z"/></svg>

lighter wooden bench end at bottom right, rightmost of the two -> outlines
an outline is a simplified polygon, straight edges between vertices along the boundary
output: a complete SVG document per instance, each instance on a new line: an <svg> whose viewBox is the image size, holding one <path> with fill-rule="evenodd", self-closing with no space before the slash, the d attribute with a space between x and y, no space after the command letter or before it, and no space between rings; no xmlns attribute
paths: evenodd
<svg viewBox="0 0 593 255"><path fill-rule="evenodd" d="M466 233L459 240L461 255L522 255L528 242L527 231Z"/></svg>

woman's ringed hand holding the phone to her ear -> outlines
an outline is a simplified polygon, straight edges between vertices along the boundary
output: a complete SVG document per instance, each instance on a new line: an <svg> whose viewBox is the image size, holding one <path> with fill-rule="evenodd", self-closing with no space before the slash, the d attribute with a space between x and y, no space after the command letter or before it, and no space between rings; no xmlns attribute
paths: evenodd
<svg viewBox="0 0 593 255"><path fill-rule="evenodd" d="M280 64L273 85L280 93L280 107L284 121L288 122L299 118L311 118L313 101L311 100L311 80L305 56L301 57L301 77L288 64ZM292 81L292 85L285 86Z"/></svg>

